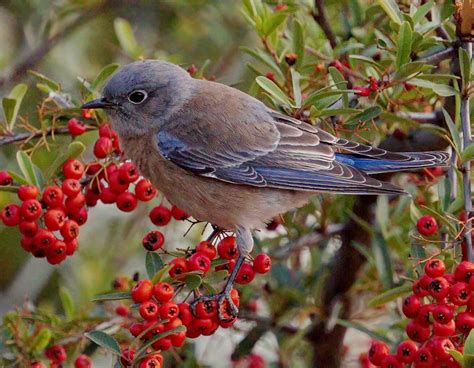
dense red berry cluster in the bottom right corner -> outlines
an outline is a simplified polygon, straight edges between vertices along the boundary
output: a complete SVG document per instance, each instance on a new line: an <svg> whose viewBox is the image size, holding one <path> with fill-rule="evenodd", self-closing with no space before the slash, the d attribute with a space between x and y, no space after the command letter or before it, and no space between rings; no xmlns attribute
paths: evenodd
<svg viewBox="0 0 474 368"><path fill-rule="evenodd" d="M474 263L463 261L453 273L440 259L425 264L424 275L413 284L413 294L403 301L409 340L390 354L388 346L374 341L369 360L380 367L460 367L450 354L462 353L465 338L474 328Z"/></svg>

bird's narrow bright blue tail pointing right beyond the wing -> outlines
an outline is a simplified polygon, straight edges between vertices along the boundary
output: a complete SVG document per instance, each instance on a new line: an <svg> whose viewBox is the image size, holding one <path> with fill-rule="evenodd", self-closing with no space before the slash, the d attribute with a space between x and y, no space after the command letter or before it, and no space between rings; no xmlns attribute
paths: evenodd
<svg viewBox="0 0 474 368"><path fill-rule="evenodd" d="M396 159L368 157L358 154L336 153L336 161L355 167L367 174L416 170L426 167L447 166L449 154L443 151L397 153ZM401 157L400 157L401 156Z"/></svg>

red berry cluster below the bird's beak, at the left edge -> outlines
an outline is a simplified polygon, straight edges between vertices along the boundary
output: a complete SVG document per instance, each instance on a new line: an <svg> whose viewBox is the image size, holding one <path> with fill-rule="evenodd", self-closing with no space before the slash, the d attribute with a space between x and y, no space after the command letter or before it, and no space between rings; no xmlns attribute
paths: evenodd
<svg viewBox="0 0 474 368"><path fill-rule="evenodd" d="M85 124L76 119L69 120L68 129L74 137L87 130ZM88 208L99 200L105 204L115 203L119 210L131 212L139 200L150 201L157 194L151 182L140 177L134 164L114 162L121 150L117 133L110 125L103 124L98 132L95 161L84 165L77 159L67 160L56 183L45 187L42 193L37 186L20 185L17 194L21 203L7 204L0 214L6 226L19 227L23 249L35 257L46 257L51 264L58 264L74 254L79 227L87 221ZM12 183L7 172L0 172L0 185ZM173 216L182 217L178 212L180 210L175 209Z"/></svg>

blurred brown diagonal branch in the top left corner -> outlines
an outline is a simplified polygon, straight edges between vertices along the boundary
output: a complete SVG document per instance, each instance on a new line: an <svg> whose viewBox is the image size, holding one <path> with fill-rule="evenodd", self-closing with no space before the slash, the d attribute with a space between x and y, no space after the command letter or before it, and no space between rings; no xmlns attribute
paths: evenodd
<svg viewBox="0 0 474 368"><path fill-rule="evenodd" d="M76 28L84 25L87 21L96 17L109 5L111 1L105 0L101 4L91 7L79 14L69 24L57 31L54 35L40 42L38 46L25 53L10 70L0 78L0 88L15 83L28 70L35 67L46 54L51 51L59 42L71 34Z"/></svg>

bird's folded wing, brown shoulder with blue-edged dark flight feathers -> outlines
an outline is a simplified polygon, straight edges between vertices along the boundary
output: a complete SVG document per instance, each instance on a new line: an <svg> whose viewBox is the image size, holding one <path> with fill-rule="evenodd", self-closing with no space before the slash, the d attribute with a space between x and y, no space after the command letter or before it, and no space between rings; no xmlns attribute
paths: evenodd
<svg viewBox="0 0 474 368"><path fill-rule="evenodd" d="M334 137L215 83L190 99L156 138L166 159L229 183L358 194L403 192L339 162L335 151L340 147L392 160L405 160L403 155Z"/></svg>

